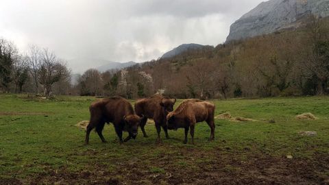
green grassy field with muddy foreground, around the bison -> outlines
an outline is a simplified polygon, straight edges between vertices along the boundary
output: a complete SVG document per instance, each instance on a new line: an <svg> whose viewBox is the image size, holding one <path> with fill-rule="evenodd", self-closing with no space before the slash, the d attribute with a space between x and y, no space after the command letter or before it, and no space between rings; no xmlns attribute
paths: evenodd
<svg viewBox="0 0 329 185"><path fill-rule="evenodd" d="M119 145L106 125L109 142L93 132L86 146L75 125L94 100L0 95L0 184L329 184L329 97L214 100L216 115L256 121L216 119L213 142L206 123L195 128L195 145L182 143L184 130L156 143L148 124L149 138L139 130ZM303 112L318 119L295 119Z"/></svg>

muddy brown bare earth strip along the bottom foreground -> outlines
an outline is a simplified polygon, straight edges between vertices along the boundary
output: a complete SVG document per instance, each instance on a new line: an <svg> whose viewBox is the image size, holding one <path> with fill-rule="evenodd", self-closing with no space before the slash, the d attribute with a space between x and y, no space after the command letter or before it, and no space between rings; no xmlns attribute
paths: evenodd
<svg viewBox="0 0 329 185"><path fill-rule="evenodd" d="M328 184L328 156L313 160L287 159L245 153L238 155L217 151L180 149L179 154L163 153L154 158L120 160L107 171L105 164L72 172L50 170L27 180L27 184ZM186 165L179 166L184 157ZM145 162L148 160L148 162ZM113 162L109 162L112 163Z"/></svg>

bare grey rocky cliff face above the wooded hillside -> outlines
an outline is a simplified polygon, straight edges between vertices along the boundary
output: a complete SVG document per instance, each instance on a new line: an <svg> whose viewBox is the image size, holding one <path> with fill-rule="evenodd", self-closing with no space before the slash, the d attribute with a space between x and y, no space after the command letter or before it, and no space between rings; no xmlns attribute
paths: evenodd
<svg viewBox="0 0 329 185"><path fill-rule="evenodd" d="M329 16L329 0L266 1L231 25L226 42L301 27L311 14Z"/></svg>

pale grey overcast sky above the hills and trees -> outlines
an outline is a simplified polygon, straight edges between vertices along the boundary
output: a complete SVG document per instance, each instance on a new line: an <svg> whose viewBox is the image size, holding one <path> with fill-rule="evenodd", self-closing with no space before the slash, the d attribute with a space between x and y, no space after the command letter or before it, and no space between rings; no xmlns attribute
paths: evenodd
<svg viewBox="0 0 329 185"><path fill-rule="evenodd" d="M76 58L143 62L183 43L218 45L262 0L1 0L0 37L21 51L47 47L73 71ZM85 62L86 63L86 62Z"/></svg>

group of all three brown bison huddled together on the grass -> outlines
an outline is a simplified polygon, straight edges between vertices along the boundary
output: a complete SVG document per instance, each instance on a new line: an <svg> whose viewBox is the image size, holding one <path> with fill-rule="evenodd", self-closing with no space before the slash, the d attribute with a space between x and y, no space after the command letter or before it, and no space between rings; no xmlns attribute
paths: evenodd
<svg viewBox="0 0 329 185"><path fill-rule="evenodd" d="M145 125L147 119L153 119L160 140L161 127L166 138L169 138L168 130L185 129L184 144L187 143L188 130L190 130L192 143L194 144L195 123L206 121L211 133L209 140L215 138L214 114L215 106L208 101L199 99L187 99L178 108L173 110L176 99L154 95L136 101L134 108L127 99L122 97L110 97L96 101L90 105L90 122L86 128L86 145L89 143L91 130L95 128L99 138L106 142L102 130L105 123L113 123L119 142L123 143L131 138L136 138L138 127L141 127L143 136L147 137ZM123 140L123 131L128 132Z"/></svg>

